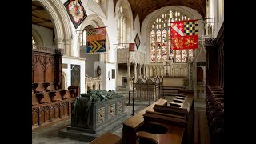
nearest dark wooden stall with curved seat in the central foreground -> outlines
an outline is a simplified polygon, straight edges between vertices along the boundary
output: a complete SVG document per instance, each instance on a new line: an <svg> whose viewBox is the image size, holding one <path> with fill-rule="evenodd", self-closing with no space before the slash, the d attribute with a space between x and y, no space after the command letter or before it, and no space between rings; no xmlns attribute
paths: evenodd
<svg viewBox="0 0 256 144"><path fill-rule="evenodd" d="M141 142L143 139L150 140L151 142L157 144L181 144L184 142L184 134L186 132L185 116L152 111L146 111L143 116L145 121L144 129L136 133L139 142ZM154 134L154 131L149 133L148 131L150 131L150 126L154 125L162 126L163 128L166 127L166 131L164 131L162 134L158 134L157 130L154 130L157 134Z"/></svg>

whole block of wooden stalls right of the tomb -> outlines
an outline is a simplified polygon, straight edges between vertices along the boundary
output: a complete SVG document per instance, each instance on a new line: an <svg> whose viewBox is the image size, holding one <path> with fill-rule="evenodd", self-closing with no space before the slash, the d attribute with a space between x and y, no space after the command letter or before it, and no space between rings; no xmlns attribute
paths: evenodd
<svg viewBox="0 0 256 144"><path fill-rule="evenodd" d="M194 91L156 102L123 122L122 143L190 144L194 133Z"/></svg>

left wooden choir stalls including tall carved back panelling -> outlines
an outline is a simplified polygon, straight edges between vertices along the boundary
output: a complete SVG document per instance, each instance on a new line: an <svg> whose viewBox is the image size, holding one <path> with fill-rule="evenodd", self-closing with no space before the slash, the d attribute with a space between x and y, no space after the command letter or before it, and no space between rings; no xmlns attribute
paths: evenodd
<svg viewBox="0 0 256 144"><path fill-rule="evenodd" d="M71 115L78 87L62 90L62 50L32 49L32 130Z"/></svg>

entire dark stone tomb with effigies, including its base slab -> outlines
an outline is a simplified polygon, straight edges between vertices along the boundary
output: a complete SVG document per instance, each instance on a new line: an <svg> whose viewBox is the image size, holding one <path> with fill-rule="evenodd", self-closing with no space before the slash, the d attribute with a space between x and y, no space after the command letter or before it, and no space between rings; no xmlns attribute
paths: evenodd
<svg viewBox="0 0 256 144"><path fill-rule="evenodd" d="M71 126L58 131L59 137L90 142L120 125L124 113L124 97L114 90L89 90L80 94L72 105Z"/></svg>

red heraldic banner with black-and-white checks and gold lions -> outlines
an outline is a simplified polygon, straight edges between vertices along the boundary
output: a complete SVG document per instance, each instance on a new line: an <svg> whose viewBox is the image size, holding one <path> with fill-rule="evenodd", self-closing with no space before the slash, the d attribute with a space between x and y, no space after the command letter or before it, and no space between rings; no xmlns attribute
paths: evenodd
<svg viewBox="0 0 256 144"><path fill-rule="evenodd" d="M170 23L172 50L198 49L198 20Z"/></svg>

